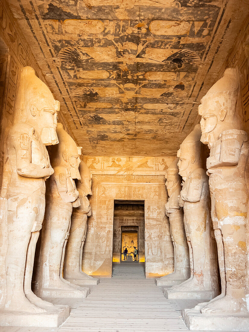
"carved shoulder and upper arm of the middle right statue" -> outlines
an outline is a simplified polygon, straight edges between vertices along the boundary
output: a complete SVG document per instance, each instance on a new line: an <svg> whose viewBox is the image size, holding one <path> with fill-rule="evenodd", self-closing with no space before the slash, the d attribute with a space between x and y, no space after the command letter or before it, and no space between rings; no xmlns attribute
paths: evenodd
<svg viewBox="0 0 249 332"><path fill-rule="evenodd" d="M186 197L188 202L199 202L201 200L205 182L208 182L208 177L203 168L198 168L190 174Z"/></svg>

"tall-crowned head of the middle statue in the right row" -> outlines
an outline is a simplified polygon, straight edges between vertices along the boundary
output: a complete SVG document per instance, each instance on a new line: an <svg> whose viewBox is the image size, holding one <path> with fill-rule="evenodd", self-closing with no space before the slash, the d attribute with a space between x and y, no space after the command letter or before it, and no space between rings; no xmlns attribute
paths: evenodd
<svg viewBox="0 0 249 332"><path fill-rule="evenodd" d="M201 167L201 125L197 124L191 133L184 139L177 151L179 174L183 180L189 177L190 173Z"/></svg>

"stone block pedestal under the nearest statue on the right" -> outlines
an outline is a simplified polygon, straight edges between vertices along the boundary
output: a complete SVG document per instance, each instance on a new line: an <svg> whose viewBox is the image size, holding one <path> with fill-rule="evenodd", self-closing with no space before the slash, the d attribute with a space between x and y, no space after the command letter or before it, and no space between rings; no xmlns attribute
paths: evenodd
<svg viewBox="0 0 249 332"><path fill-rule="evenodd" d="M190 330L247 332L249 327L249 316L203 314L195 309L184 309L183 320Z"/></svg>

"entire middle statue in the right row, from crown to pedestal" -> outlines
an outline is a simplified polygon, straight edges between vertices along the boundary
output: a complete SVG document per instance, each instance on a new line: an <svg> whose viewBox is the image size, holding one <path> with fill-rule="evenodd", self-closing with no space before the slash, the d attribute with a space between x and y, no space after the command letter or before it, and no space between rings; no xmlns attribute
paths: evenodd
<svg viewBox="0 0 249 332"><path fill-rule="evenodd" d="M168 298L211 299L218 292L216 261L211 251L208 176L203 168L201 127L197 124L178 150L183 188L179 198L190 250L191 276L165 289Z"/></svg>

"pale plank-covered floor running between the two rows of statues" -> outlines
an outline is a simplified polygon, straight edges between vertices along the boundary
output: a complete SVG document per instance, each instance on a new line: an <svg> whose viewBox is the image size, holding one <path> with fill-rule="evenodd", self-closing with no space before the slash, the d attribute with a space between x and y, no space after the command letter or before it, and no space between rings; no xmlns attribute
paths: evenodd
<svg viewBox="0 0 249 332"><path fill-rule="evenodd" d="M154 279L145 279L144 264L114 264L113 278L92 286L85 300L53 300L71 308L61 327L0 327L0 332L187 332L181 310L198 302L166 299Z"/></svg>

